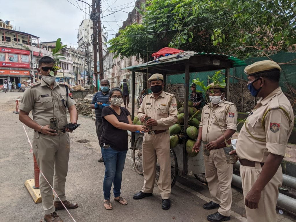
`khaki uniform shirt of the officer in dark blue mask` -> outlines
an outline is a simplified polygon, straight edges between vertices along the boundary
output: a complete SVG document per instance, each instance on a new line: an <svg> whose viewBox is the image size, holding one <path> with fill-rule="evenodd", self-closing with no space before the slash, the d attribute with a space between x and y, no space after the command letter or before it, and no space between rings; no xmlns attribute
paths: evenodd
<svg viewBox="0 0 296 222"><path fill-rule="evenodd" d="M284 111L278 109L284 108ZM273 109L276 108L276 109ZM262 118L268 109L271 109L265 117L264 126L262 128ZM281 87L277 88L265 99L260 99L246 120L239 136L237 138L237 155L241 159L264 163L268 154L284 156L289 136L294 126L294 115L291 103L281 91ZM252 136L264 140L259 141Z"/></svg>

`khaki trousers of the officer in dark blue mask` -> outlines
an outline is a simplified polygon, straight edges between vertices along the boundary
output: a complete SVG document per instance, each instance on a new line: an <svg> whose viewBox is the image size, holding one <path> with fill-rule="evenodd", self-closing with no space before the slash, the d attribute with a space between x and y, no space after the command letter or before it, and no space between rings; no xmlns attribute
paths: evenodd
<svg viewBox="0 0 296 222"><path fill-rule="evenodd" d="M242 178L242 191L244 200L252 188L255 181L258 179L262 167L260 163L255 162L255 167L240 166L240 175ZM258 209L250 209L245 206L248 222L276 222L276 202L279 197L279 187L283 181L283 173L281 166L276 171L273 178L266 184L258 203Z"/></svg>

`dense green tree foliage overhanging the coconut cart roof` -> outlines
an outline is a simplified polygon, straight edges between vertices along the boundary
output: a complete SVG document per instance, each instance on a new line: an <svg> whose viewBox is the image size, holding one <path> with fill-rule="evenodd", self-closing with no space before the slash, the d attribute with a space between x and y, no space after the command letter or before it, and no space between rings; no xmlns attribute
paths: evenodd
<svg viewBox="0 0 296 222"><path fill-rule="evenodd" d="M165 46L241 59L295 51L294 0L147 0L138 12L142 23L127 26L109 41L116 57L151 60Z"/></svg>

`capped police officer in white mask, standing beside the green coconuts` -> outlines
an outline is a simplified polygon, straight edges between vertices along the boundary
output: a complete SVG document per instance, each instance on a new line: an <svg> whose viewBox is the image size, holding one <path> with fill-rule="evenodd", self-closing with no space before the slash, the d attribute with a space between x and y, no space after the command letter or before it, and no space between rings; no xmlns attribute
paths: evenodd
<svg viewBox="0 0 296 222"><path fill-rule="evenodd" d="M211 195L211 201L203 208L219 208L207 219L228 221L232 202L232 164L226 162L222 148L231 144L230 138L237 130L237 108L232 102L224 100L225 86L214 83L209 86L211 102L202 109L198 137L192 152L198 152L203 141L205 176Z"/></svg>

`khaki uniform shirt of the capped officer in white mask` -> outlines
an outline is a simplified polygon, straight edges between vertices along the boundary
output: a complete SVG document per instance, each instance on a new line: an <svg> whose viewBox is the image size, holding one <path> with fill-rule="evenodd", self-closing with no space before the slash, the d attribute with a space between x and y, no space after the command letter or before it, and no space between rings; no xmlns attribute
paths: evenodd
<svg viewBox="0 0 296 222"><path fill-rule="evenodd" d="M232 102L225 100L215 107L212 103L208 103L202 108L199 126L202 127L202 141L208 142L218 139L226 129L236 131L237 107ZM228 139L226 138L226 140Z"/></svg>

